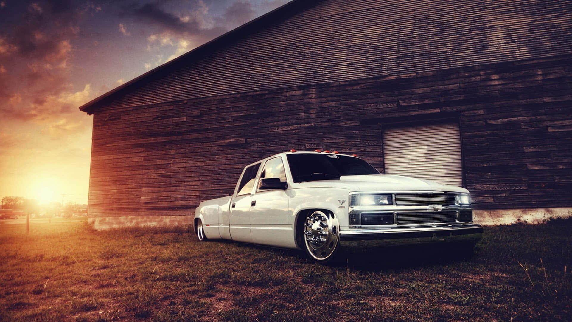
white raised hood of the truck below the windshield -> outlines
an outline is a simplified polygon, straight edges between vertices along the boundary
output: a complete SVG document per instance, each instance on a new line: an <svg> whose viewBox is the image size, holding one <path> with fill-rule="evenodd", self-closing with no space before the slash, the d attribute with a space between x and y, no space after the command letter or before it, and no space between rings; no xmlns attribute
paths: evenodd
<svg viewBox="0 0 572 322"><path fill-rule="evenodd" d="M370 174L343 175L339 180L319 180L301 183L308 187L338 187L351 191L450 191L468 193L462 187L449 186L429 180L401 175Z"/></svg>

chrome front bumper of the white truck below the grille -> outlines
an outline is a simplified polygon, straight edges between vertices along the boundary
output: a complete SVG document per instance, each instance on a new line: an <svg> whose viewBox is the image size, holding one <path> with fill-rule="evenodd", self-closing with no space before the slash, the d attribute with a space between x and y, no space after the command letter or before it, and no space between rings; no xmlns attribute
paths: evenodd
<svg viewBox="0 0 572 322"><path fill-rule="evenodd" d="M476 224L389 229L352 229L340 231L340 246L347 248L380 248L416 244L476 244L483 227Z"/></svg>

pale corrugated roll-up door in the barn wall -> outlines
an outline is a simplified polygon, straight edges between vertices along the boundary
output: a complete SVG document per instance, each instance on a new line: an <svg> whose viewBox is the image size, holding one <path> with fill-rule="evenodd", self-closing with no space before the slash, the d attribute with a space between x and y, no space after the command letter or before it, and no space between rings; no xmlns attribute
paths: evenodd
<svg viewBox="0 0 572 322"><path fill-rule="evenodd" d="M383 132L383 156L386 174L462 184L456 123L388 128Z"/></svg>

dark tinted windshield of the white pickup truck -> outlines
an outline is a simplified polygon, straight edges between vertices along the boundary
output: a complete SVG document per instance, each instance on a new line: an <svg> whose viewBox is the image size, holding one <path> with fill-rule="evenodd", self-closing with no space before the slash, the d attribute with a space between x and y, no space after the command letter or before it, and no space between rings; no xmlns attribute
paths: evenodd
<svg viewBox="0 0 572 322"><path fill-rule="evenodd" d="M333 154L288 154L294 182L339 179L342 175L379 174L369 163L352 156Z"/></svg>

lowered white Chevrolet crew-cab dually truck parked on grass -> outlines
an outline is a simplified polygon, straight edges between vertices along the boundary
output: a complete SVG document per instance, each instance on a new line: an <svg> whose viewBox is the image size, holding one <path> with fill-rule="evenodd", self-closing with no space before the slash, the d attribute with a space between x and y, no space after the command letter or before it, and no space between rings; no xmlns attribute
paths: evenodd
<svg viewBox="0 0 572 322"><path fill-rule="evenodd" d="M468 190L382 175L355 155L320 150L249 164L232 196L200 203L194 229L200 241L301 249L317 262L340 248L451 243L470 252L483 232Z"/></svg>

